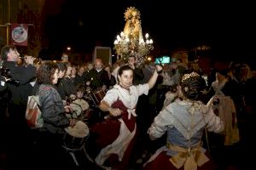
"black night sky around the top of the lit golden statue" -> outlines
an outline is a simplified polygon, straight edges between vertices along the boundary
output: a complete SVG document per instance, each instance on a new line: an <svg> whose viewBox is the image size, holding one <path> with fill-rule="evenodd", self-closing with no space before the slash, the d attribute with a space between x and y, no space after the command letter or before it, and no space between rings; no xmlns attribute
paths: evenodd
<svg viewBox="0 0 256 170"><path fill-rule="evenodd" d="M66 0L58 13L49 15L45 35L49 46L68 45L90 53L96 45L113 48L125 26L125 9L141 12L143 34L148 32L162 51L208 44L224 55L255 56L255 16L248 3L184 3L183 1L87 1ZM178 3L177 3L178 2Z"/></svg>

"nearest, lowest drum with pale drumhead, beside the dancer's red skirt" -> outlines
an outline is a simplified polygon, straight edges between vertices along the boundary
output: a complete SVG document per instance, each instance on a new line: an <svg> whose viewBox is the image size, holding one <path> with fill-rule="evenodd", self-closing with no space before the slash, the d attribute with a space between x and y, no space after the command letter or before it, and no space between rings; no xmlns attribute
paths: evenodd
<svg viewBox="0 0 256 170"><path fill-rule="evenodd" d="M89 135L89 128L82 122L76 122L74 127L65 128L63 147L68 150L79 150L84 146L86 137Z"/></svg>

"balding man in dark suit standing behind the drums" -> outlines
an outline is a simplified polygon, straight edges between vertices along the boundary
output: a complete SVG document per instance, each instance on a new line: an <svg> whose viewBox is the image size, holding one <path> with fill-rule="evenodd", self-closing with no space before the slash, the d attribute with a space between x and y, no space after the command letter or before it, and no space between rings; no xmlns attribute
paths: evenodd
<svg viewBox="0 0 256 170"><path fill-rule="evenodd" d="M108 78L108 72L103 69L102 59L95 60L95 66L88 72L85 82L87 86L90 86L92 91L99 89L106 91L109 88L110 80Z"/></svg>

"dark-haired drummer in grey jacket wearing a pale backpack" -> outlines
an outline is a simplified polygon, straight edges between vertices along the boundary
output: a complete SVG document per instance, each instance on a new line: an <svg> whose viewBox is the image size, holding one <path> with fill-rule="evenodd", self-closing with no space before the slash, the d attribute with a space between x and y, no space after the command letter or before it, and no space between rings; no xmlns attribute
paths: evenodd
<svg viewBox="0 0 256 170"><path fill-rule="evenodd" d="M75 166L73 159L61 146L66 127L73 127L77 122L68 119L65 112L70 111L69 105L64 107L55 84L58 82L59 70L54 62L44 61L38 68L34 94L39 94L44 126L35 129L36 166L42 169L67 169Z"/></svg>

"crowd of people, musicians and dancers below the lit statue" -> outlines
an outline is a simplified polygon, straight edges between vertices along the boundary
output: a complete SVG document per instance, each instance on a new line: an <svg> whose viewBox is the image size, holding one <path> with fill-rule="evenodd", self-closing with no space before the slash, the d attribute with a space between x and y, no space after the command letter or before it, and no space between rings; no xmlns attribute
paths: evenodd
<svg viewBox="0 0 256 170"><path fill-rule="evenodd" d="M28 159L41 169L245 169L253 162L243 157L253 150L247 133L255 118L248 65L212 70L205 79L207 73L183 62L138 66L130 56L127 63L73 65L67 55L61 59L20 58L12 45L1 50L0 152L7 154L7 169L29 169ZM30 129L26 102L35 94L44 126ZM63 138L81 121L90 135L85 156L76 159Z"/></svg>

